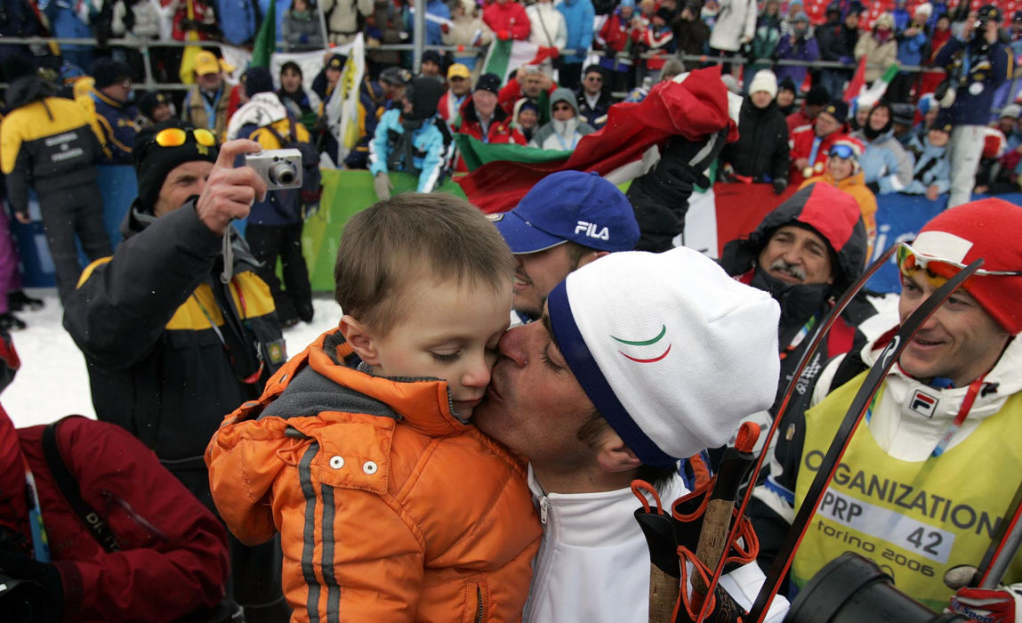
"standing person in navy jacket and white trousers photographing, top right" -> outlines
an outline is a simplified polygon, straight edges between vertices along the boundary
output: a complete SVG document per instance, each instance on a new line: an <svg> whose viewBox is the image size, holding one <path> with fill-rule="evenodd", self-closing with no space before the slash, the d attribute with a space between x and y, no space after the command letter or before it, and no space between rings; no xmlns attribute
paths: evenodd
<svg viewBox="0 0 1022 623"><path fill-rule="evenodd" d="M983 5L976 20L966 20L962 35L953 37L933 60L947 71L948 79L937 87L936 95L941 107L950 108L955 125L947 147L951 169L948 208L972 196L993 95L1008 80L1012 66L1011 49L997 37L1000 24L1001 9Z"/></svg>

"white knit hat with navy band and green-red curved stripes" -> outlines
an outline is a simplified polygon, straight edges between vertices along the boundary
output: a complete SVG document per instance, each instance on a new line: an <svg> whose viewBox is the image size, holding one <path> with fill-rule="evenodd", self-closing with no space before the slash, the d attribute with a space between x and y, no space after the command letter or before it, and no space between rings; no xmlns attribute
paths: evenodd
<svg viewBox="0 0 1022 623"><path fill-rule="evenodd" d="M721 446L774 402L778 304L698 252L610 254L547 304L586 395L646 464Z"/></svg>

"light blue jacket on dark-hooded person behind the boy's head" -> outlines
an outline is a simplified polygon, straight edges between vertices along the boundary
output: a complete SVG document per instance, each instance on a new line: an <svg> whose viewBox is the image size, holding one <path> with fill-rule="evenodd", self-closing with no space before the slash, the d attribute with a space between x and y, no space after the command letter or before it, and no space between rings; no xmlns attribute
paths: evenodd
<svg viewBox="0 0 1022 623"><path fill-rule="evenodd" d="M431 192L444 173L444 134L433 125L436 117L427 119L422 127L412 132L412 165L419 170L418 192ZM398 139L405 133L401 123L401 110L387 110L380 117L376 134L369 143L369 172L388 173L387 160ZM402 167L399 171L407 171Z"/></svg>

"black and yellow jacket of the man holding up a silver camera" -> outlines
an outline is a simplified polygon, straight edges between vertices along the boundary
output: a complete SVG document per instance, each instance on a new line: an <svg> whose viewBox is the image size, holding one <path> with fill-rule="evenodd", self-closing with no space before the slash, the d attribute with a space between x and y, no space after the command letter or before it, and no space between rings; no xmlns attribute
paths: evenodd
<svg viewBox="0 0 1022 623"><path fill-rule="evenodd" d="M133 206L122 232L113 257L82 273L64 327L85 354L97 417L169 466L201 466L224 415L286 359L270 288L236 232L233 277L221 282L223 238L192 202L158 219Z"/></svg>

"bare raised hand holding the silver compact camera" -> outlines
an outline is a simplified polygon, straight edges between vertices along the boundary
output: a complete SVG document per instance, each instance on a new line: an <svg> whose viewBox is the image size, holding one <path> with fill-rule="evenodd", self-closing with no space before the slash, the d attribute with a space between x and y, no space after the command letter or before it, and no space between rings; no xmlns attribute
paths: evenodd
<svg viewBox="0 0 1022 623"><path fill-rule="evenodd" d="M210 231L224 235L227 226L248 216L256 199L266 199L266 182L250 167L234 168L234 161L244 153L261 151L253 140L238 139L220 147L217 164L210 172L202 194L195 202L195 212Z"/></svg>

